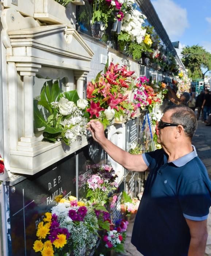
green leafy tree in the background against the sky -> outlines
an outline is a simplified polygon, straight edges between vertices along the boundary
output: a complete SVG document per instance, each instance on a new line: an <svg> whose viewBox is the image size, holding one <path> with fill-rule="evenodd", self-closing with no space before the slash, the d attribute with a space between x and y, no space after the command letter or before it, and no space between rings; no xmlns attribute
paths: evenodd
<svg viewBox="0 0 211 256"><path fill-rule="evenodd" d="M211 54L202 46L185 46L181 54L183 64L188 69L188 76L192 80L204 78L207 71L211 70ZM207 71L203 73L202 68L206 68Z"/></svg>

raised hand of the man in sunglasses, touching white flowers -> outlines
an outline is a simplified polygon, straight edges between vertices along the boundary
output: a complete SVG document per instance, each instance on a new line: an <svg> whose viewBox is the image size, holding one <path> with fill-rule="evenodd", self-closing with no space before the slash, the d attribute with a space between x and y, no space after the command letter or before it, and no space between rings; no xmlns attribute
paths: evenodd
<svg viewBox="0 0 211 256"><path fill-rule="evenodd" d="M96 142L99 143L105 139L104 127L103 124L100 123L100 121L93 119L90 120L87 125L89 125L87 130L91 132L92 137Z"/></svg>

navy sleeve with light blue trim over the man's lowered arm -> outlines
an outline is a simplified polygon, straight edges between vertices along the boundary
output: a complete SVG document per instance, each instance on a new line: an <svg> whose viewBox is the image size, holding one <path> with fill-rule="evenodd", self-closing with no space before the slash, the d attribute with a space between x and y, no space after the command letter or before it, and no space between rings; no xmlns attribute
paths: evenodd
<svg viewBox="0 0 211 256"><path fill-rule="evenodd" d="M202 180L189 183L179 191L179 201L183 216L192 221L207 219L211 206L210 189Z"/></svg>

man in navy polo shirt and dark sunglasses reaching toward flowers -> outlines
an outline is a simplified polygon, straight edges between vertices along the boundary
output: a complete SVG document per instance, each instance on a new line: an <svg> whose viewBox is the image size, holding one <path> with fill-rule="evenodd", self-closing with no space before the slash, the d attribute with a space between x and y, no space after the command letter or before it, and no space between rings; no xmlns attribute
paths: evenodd
<svg viewBox="0 0 211 256"><path fill-rule="evenodd" d="M162 149L131 155L104 136L92 120L93 138L128 170L149 170L132 243L144 256L204 256L211 205L207 170L191 145L196 116L187 106L167 107L158 123Z"/></svg>

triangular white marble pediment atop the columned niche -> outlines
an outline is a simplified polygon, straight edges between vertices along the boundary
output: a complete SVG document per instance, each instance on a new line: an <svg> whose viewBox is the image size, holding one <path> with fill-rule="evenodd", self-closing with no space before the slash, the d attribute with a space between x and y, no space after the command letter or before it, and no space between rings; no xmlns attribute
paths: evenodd
<svg viewBox="0 0 211 256"><path fill-rule="evenodd" d="M11 13L19 22L19 27L9 23L7 16ZM7 52L8 62L31 62L41 66L90 71L94 53L75 29L68 29L65 25L41 26L33 18L28 18L15 10L5 12L7 26L4 27L3 22L3 28L4 34L9 37L5 46L11 49ZM29 24L26 25L26 22Z"/></svg>

